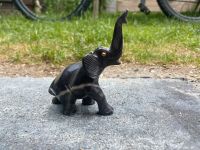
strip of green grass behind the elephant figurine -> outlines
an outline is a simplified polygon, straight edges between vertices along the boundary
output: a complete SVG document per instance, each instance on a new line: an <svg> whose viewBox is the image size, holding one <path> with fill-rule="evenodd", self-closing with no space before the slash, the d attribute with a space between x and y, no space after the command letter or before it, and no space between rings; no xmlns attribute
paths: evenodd
<svg viewBox="0 0 200 150"><path fill-rule="evenodd" d="M0 16L0 59L14 63L66 65L97 46L109 47L119 14L91 14L71 22L30 21ZM124 62L200 64L200 24L169 20L160 13L128 16L124 26Z"/></svg>

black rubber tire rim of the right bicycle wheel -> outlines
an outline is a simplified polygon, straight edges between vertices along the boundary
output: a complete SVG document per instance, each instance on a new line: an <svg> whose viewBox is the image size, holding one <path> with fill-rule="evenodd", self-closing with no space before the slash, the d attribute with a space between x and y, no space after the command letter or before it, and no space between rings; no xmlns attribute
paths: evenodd
<svg viewBox="0 0 200 150"><path fill-rule="evenodd" d="M172 8L169 4L169 0L157 0L157 2L162 12L168 17L173 17L186 22L200 22L200 14L196 17L186 16Z"/></svg>

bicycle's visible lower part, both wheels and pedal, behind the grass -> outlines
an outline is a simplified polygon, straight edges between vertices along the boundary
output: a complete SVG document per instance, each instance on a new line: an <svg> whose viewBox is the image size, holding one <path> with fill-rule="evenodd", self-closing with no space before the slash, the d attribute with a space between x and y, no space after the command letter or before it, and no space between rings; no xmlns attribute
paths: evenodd
<svg viewBox="0 0 200 150"><path fill-rule="evenodd" d="M13 0L17 8L32 20L65 20L81 16L92 0ZM163 13L183 21L200 22L200 0L157 0ZM139 8L145 14L150 10L146 0L140 0ZM70 9L72 8L72 9Z"/></svg>

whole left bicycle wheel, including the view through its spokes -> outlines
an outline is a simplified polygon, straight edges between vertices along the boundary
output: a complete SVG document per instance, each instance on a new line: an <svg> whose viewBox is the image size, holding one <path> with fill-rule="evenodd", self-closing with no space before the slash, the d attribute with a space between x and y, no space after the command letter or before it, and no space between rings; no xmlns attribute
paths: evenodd
<svg viewBox="0 0 200 150"><path fill-rule="evenodd" d="M80 16L91 0L14 0L24 16L32 20L65 20Z"/></svg>

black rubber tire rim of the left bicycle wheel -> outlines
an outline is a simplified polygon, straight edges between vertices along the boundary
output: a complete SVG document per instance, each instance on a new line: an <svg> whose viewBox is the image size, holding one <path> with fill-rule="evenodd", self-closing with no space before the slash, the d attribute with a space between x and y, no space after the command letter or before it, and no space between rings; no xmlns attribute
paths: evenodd
<svg viewBox="0 0 200 150"><path fill-rule="evenodd" d="M81 16L90 6L91 0L80 0L79 4L69 13L61 18L45 18L40 17L30 10L23 2L23 0L14 0L16 7L21 11L21 13L28 19L31 20L51 20L51 21L63 21L70 20L73 16Z"/></svg>

